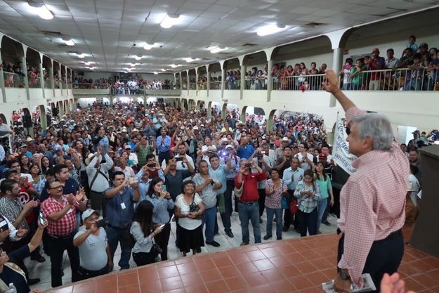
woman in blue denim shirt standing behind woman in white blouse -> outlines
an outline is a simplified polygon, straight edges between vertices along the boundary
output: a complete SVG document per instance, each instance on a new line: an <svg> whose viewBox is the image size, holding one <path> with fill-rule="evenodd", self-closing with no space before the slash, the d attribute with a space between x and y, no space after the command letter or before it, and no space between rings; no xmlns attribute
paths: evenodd
<svg viewBox="0 0 439 293"><path fill-rule="evenodd" d="M171 194L166 190L163 190L163 186L164 181L162 178L153 178L150 182L150 190L148 190L146 200L150 201L154 205L154 210L152 212L152 223L165 224L162 228L162 233L155 237L155 242L160 248L162 248L162 253L160 254L162 261L166 261L168 259L169 235L171 235L171 217L169 216L168 209L173 209L174 202Z"/></svg>

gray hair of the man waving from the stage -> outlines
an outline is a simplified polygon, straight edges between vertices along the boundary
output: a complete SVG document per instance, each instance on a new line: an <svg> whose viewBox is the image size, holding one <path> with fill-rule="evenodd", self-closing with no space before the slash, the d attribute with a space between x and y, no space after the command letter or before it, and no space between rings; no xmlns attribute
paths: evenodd
<svg viewBox="0 0 439 293"><path fill-rule="evenodd" d="M391 122L382 114L367 113L352 119L358 123L358 135L360 139L369 136L372 138L372 150L391 150L393 131Z"/></svg>

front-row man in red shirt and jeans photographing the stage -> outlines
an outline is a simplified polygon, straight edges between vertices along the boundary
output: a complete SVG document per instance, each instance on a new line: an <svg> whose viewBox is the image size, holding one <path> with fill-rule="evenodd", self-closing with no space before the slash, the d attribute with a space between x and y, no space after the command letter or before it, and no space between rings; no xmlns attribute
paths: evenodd
<svg viewBox="0 0 439 293"><path fill-rule="evenodd" d="M251 173L251 168L256 169L257 173ZM242 195L238 199L238 214L241 221L242 243L248 245L250 242L249 221L253 226L254 242L261 243L261 227L259 227L259 194L258 181L267 178L267 173L255 162L247 159L240 159L240 173L235 175L235 187L242 188Z"/></svg>

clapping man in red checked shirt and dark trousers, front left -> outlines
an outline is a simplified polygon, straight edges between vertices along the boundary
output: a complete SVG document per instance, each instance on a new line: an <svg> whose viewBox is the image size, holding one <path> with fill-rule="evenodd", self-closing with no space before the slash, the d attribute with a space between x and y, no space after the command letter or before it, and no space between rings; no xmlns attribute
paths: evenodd
<svg viewBox="0 0 439 293"><path fill-rule="evenodd" d="M67 249L72 268L72 282L80 280L79 251L73 245L73 237L77 227L76 211L84 211L87 198L84 190L77 195L63 195L63 184L58 179L46 182L48 199L41 203L41 211L48 220L47 233L50 239L52 287L63 285L61 262L64 250Z"/></svg>

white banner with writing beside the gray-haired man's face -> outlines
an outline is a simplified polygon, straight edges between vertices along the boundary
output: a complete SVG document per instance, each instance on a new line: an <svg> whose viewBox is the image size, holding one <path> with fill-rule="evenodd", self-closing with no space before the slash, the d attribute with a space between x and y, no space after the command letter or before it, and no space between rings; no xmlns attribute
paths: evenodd
<svg viewBox="0 0 439 293"><path fill-rule="evenodd" d="M339 115L337 115L332 158L336 164L343 168L343 170L349 175L352 175L353 172L355 172L355 168L352 167L352 162L357 157L349 153L349 144L346 141L345 127L343 126L343 120Z"/></svg>

